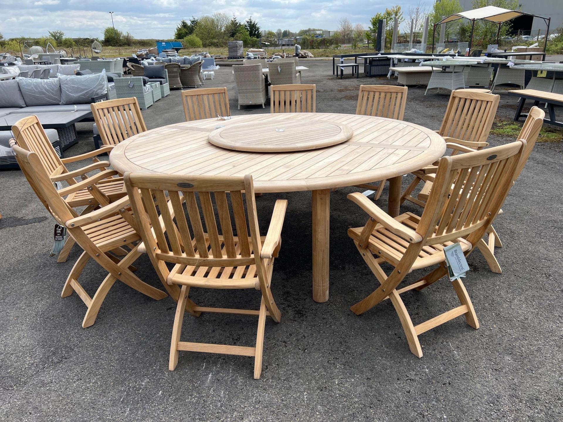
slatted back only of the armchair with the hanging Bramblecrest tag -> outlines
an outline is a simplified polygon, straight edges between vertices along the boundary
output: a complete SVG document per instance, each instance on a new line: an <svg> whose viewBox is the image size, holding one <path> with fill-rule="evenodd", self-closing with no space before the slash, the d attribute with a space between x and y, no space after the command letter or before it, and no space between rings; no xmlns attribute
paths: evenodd
<svg viewBox="0 0 563 422"><path fill-rule="evenodd" d="M463 237L475 246L501 209L526 141L441 158L417 232L424 245Z"/></svg>

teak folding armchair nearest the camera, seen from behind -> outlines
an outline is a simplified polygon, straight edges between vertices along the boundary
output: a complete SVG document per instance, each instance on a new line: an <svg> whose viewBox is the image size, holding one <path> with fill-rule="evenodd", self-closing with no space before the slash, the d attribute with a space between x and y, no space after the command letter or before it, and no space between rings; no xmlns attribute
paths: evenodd
<svg viewBox="0 0 563 422"><path fill-rule="evenodd" d="M270 285L274 258L278 256L282 241L280 235L287 201L276 201L267 235L260 237L251 176L190 177L126 173L125 181L146 251L160 280L165 284L181 286L168 368L175 369L178 351L239 354L254 356L254 378L260 378L266 316L271 316L276 322L282 316L272 297ZM242 191L245 192L247 212L244 210ZM164 205L166 194L175 212L176 222ZM215 201L212 201L212 197ZM157 227L154 235L151 232L150 223L157 222L159 218L155 205L159 207L168 239L164 237L163 231L158 230L159 225L154 226ZM200 209L203 219L200 217ZM207 232L203 231L203 226ZM167 263L174 264L172 270L168 269ZM188 298L192 287L261 290L260 309L196 306ZM180 341L185 311L194 316L199 316L202 312L258 316L256 347Z"/></svg>

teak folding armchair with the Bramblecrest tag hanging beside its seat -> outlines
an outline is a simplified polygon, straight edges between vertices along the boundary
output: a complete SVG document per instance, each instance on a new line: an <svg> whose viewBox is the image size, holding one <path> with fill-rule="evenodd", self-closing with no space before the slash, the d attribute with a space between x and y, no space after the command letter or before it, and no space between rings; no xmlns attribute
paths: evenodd
<svg viewBox="0 0 563 422"><path fill-rule="evenodd" d="M360 315L382 300L391 299L410 351L418 357L422 357L418 336L446 321L464 315L469 325L479 328L471 299L459 278L452 284L461 306L418 325L413 325L400 294L424 289L447 274L444 246L459 243L466 256L475 249L513 185L525 148L526 141L516 141L443 157L421 217L405 213L392 218L364 195L349 194L348 198L368 213L368 221L364 227L348 229L348 235L381 284L352 306L352 312ZM394 270L387 275L382 263L391 264ZM397 290L409 272L436 264L436 270Z"/></svg>

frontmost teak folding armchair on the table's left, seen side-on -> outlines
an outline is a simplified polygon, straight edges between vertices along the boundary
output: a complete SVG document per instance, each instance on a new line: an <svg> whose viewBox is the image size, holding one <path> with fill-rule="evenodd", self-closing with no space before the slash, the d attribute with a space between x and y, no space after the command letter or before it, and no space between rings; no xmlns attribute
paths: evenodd
<svg viewBox="0 0 563 422"><path fill-rule="evenodd" d="M167 297L167 294L162 290L145 284L132 272L135 270L135 267L132 267L133 262L141 255L138 252L138 244L134 246L133 243L139 241L141 237L135 230L136 223L133 220L127 197L123 197L84 216L78 216L68 203L62 199L61 191L57 191L55 186L53 186L40 156L35 152L15 145L15 142L12 142L12 149L15 152L17 163L20 165L39 200L41 200L57 223L65 226L73 239L84 249L84 252L70 271L61 293L61 297L64 298L70 296L75 291L88 307L82 321L82 327L86 328L94 324L101 304L116 280L123 281L131 288L140 291L150 298L160 300ZM113 170L108 171L113 172ZM66 188L66 191L73 191L74 186L69 186L69 188ZM122 246L131 248L131 251L122 259L110 254L111 250L121 248ZM78 282L82 270L90 258L99 263L104 270L108 271L108 276L102 281L93 297L90 297Z"/></svg>

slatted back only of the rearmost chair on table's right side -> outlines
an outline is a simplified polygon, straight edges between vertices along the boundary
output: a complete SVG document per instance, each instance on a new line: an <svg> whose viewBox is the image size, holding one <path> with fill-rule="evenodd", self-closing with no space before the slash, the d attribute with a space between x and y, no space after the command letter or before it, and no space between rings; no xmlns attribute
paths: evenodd
<svg viewBox="0 0 563 422"><path fill-rule="evenodd" d="M455 89L438 132L441 136L469 142L483 142L485 147L501 96L473 89Z"/></svg>

